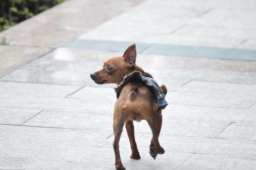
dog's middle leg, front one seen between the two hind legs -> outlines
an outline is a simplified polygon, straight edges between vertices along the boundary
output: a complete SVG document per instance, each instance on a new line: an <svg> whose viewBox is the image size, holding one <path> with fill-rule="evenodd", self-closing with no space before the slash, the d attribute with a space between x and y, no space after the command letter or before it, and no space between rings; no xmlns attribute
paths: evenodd
<svg viewBox="0 0 256 170"><path fill-rule="evenodd" d="M134 137L134 126L132 120L128 120L125 122L125 127L126 131L130 140L131 144L131 149L132 149L132 154L130 158L132 159L140 159L140 153L137 148L137 144L135 142L135 137Z"/></svg>

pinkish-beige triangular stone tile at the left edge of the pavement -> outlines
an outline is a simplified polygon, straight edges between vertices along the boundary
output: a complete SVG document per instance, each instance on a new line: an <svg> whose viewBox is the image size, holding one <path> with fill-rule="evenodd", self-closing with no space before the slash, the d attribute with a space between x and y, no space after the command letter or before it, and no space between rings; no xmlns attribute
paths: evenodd
<svg viewBox="0 0 256 170"><path fill-rule="evenodd" d="M50 48L42 47L0 45L0 77L50 50Z"/></svg>

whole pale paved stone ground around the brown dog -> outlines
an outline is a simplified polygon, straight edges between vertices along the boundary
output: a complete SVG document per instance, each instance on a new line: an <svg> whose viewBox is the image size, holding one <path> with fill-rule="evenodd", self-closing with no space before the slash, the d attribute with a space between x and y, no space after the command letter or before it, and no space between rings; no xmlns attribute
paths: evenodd
<svg viewBox="0 0 256 170"><path fill-rule="evenodd" d="M256 169L254 0L69 0L0 33L0 170L112 170L114 85L89 74L137 43L166 84L160 144L134 123L128 170ZM239 60L237 60L239 59Z"/></svg>

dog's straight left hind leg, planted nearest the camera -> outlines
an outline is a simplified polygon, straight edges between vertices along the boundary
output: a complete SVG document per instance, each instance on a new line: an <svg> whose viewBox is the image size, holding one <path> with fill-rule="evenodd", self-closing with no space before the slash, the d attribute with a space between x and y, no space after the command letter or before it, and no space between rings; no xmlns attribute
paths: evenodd
<svg viewBox="0 0 256 170"><path fill-rule="evenodd" d="M122 116L120 115L120 112L116 112L116 109L114 111L114 142L113 142L113 148L116 156L116 162L115 166L117 170L125 170L124 166L121 162L120 152L119 152L119 140L123 131L124 121L122 120Z"/></svg>

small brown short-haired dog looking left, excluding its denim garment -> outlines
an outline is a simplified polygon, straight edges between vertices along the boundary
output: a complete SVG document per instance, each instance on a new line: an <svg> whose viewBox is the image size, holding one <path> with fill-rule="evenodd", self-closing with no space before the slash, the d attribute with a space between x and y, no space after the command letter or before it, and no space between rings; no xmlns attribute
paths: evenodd
<svg viewBox="0 0 256 170"><path fill-rule="evenodd" d="M143 76L152 78L150 74L135 65L135 60L136 47L135 44L133 44L127 48L123 57L109 59L104 62L102 70L92 73L90 76L97 84L115 83L117 85L122 82L126 74L130 74L134 71L140 71ZM167 93L164 85L161 86L161 89L164 94ZM162 126L162 110L158 109L156 100L149 86L146 86L144 82L140 80L132 80L122 88L114 107L113 123L113 147L116 156L115 166L117 170L125 170L119 153L119 140L124 123L132 149L130 158L140 159L134 138L133 120L146 120L152 130L153 137L150 144L150 155L155 159L157 154L164 154L164 149L158 142L158 136Z"/></svg>

